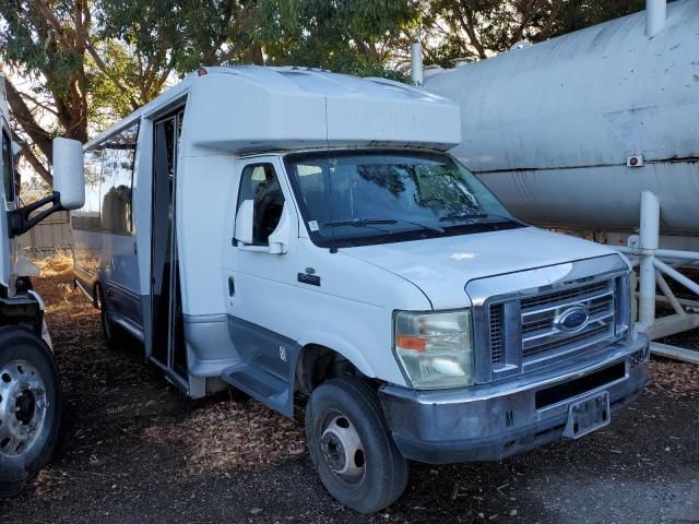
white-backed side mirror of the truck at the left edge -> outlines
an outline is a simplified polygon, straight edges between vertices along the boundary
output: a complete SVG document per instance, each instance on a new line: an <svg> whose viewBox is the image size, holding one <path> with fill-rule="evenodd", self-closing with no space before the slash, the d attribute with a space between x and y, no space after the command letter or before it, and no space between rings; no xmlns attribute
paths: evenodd
<svg viewBox="0 0 699 524"><path fill-rule="evenodd" d="M64 210L85 204L83 144L76 140L54 139L54 192Z"/></svg>

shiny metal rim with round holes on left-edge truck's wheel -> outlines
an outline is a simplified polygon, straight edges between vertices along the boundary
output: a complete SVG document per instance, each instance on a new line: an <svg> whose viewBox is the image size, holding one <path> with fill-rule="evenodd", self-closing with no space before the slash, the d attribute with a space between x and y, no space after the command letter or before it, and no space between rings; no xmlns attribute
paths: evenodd
<svg viewBox="0 0 699 524"><path fill-rule="evenodd" d="M32 449L46 422L44 379L26 360L0 369L0 454L19 456Z"/></svg>

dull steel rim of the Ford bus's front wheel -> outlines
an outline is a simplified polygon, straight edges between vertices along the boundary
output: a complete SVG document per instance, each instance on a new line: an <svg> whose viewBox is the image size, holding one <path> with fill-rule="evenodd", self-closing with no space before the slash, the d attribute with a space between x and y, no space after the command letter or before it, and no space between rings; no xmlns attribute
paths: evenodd
<svg viewBox="0 0 699 524"><path fill-rule="evenodd" d="M330 471L351 485L362 483L366 472L364 445L352 420L332 413L321 429L320 452Z"/></svg>

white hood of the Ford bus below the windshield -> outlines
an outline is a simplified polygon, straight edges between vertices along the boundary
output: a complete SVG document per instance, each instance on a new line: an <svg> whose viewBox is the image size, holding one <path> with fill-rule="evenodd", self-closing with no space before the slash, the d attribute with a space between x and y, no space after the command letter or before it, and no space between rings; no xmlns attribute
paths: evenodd
<svg viewBox="0 0 699 524"><path fill-rule="evenodd" d="M412 282L434 309L471 306L475 278L615 253L599 243L526 227L342 250Z"/></svg>

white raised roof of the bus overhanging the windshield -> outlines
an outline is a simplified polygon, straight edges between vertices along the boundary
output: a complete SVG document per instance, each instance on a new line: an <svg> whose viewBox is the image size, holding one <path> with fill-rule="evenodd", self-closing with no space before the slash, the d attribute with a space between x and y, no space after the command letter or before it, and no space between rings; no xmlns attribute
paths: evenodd
<svg viewBox="0 0 699 524"><path fill-rule="evenodd" d="M186 156L323 146L448 150L461 143L455 103L399 82L295 67L201 71L112 129L187 96Z"/></svg>

